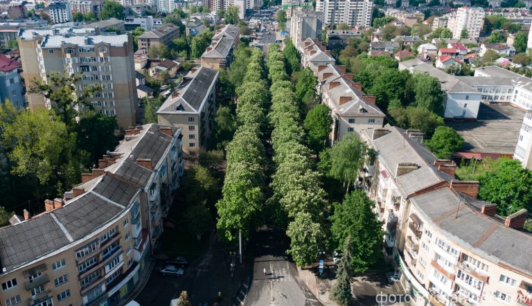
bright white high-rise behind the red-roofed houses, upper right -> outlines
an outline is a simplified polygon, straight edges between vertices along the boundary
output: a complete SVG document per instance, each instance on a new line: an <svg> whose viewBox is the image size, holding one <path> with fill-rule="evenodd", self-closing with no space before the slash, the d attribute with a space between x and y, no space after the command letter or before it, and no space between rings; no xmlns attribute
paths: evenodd
<svg viewBox="0 0 532 306"><path fill-rule="evenodd" d="M484 26L484 9L462 7L447 17L447 28L452 32L452 38L459 39L462 30L468 31L468 37L478 39Z"/></svg>

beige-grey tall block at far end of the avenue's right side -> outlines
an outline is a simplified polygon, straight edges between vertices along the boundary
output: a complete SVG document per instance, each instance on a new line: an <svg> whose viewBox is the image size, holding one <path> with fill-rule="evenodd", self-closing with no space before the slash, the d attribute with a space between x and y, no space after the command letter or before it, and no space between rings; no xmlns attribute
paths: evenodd
<svg viewBox="0 0 532 306"><path fill-rule="evenodd" d="M307 10L296 11L290 18L290 37L292 44L297 45L302 39L321 39L321 19L323 13Z"/></svg>

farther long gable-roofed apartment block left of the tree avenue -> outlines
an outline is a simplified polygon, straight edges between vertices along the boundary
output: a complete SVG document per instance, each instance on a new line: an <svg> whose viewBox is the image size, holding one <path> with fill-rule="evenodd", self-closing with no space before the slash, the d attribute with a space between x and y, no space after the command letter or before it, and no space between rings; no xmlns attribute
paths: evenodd
<svg viewBox="0 0 532 306"><path fill-rule="evenodd" d="M208 46L202 54L202 67L209 69L226 69L233 60L233 51L240 42L240 28L228 24L216 31Z"/></svg>

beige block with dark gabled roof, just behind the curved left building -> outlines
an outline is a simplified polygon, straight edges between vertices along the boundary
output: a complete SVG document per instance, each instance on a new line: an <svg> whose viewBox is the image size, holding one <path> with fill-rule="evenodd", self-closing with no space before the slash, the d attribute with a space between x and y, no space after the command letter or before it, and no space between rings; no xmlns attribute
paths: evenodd
<svg viewBox="0 0 532 306"><path fill-rule="evenodd" d="M211 137L217 82L218 71L205 67L190 71L157 110L159 124L181 128L187 154L197 152Z"/></svg>

